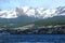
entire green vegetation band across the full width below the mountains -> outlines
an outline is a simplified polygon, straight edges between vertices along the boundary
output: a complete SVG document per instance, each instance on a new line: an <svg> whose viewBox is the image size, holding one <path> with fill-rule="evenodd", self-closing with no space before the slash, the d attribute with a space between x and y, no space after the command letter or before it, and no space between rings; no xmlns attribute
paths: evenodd
<svg viewBox="0 0 65 43"><path fill-rule="evenodd" d="M55 26L55 25L65 25L65 19L64 18L50 18L50 19L41 19L38 22L34 22L34 23L27 23L27 24L1 24L0 23L0 28L17 28L17 27L22 27L25 25L30 25L30 24L35 24L35 27L40 27L40 26Z"/></svg>

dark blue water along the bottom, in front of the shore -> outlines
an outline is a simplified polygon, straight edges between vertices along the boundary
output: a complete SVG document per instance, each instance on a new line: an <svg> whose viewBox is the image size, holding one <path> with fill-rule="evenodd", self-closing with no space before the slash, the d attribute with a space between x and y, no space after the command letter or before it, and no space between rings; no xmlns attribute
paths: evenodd
<svg viewBox="0 0 65 43"><path fill-rule="evenodd" d="M0 33L0 43L65 43L65 34Z"/></svg>

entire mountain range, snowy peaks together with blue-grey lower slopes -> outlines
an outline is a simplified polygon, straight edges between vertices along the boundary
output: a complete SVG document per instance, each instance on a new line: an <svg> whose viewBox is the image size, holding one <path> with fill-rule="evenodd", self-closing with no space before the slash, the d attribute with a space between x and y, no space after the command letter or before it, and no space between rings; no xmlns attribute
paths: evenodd
<svg viewBox="0 0 65 43"><path fill-rule="evenodd" d="M11 11L0 10L0 24L26 24L49 18L57 19L57 17L65 18L65 6L56 9L22 6Z"/></svg>

